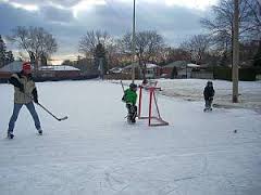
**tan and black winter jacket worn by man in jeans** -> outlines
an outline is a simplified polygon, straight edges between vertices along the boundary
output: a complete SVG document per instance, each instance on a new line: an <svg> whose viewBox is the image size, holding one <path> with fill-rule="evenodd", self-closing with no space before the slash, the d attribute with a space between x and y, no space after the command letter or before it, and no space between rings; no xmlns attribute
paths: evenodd
<svg viewBox="0 0 261 195"><path fill-rule="evenodd" d="M33 101L32 98L38 102L36 86L30 74L28 76L23 72L13 74L9 82L14 86L14 103L28 104Z"/></svg>

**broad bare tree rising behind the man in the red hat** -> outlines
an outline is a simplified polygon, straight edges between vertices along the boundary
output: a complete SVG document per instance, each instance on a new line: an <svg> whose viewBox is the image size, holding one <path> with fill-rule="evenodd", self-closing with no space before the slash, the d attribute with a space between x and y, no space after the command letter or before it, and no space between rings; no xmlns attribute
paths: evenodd
<svg viewBox="0 0 261 195"><path fill-rule="evenodd" d="M13 29L13 35L9 39L16 42L21 49L28 53L29 57L35 61L36 69L38 69L40 56L49 57L58 50L53 36L41 27L17 26Z"/></svg>

